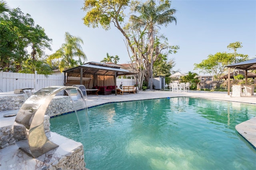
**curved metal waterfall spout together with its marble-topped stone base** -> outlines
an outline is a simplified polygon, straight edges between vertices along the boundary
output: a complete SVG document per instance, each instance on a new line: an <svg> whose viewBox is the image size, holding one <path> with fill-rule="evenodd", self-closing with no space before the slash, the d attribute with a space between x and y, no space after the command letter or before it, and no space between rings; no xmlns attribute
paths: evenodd
<svg viewBox="0 0 256 170"><path fill-rule="evenodd" d="M0 150L1 169L85 169L83 145L45 127L50 126L49 116L44 115L46 108L61 90L68 93L75 111L84 110L84 116L78 116L82 121L78 122L87 122L88 127L87 107L79 88L54 86L41 89L28 98L18 111L13 128L16 145L11 144ZM90 140L88 136L84 136L87 142Z"/></svg>

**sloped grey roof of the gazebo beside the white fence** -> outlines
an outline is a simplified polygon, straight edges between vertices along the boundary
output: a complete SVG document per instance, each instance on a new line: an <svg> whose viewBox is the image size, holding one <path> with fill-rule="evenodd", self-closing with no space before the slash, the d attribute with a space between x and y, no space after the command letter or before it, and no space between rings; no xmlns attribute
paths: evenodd
<svg viewBox="0 0 256 170"><path fill-rule="evenodd" d="M114 76L115 73L116 73L116 76L137 74L135 72L130 72L129 70L125 70L118 66L113 66L110 64L99 63L99 62L88 62L81 66L77 66L75 68L65 70L64 73L80 74L81 69L82 69L82 72L86 74L97 74L97 75L106 75L106 76Z"/></svg>

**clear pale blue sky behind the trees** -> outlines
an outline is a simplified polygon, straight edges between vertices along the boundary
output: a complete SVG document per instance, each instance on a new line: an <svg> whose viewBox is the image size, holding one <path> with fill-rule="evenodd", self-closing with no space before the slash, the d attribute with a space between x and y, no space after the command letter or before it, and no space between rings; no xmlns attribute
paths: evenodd
<svg viewBox="0 0 256 170"><path fill-rule="evenodd" d="M6 0L10 8L20 8L28 13L35 24L45 29L52 38L53 54L64 43L65 32L79 36L84 41L82 49L87 61L100 62L106 57L118 55L118 64L130 62L124 36L114 26L110 30L88 28L82 18L83 0ZM160 26L160 33L168 38L169 45L178 45L174 59L174 71L187 73L194 70L194 64L207 59L209 54L233 52L227 46L242 42L239 54L256 57L256 1L255 0L172 0L171 8L177 10L174 16L177 24ZM29 50L29 49L28 49ZM203 75L202 73L200 75Z"/></svg>

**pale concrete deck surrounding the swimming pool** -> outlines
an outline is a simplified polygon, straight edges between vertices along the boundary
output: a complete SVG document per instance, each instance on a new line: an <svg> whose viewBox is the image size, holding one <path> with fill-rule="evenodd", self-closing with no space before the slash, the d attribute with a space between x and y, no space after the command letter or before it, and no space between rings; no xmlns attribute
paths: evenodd
<svg viewBox="0 0 256 170"><path fill-rule="evenodd" d="M4 94L4 93L2 93ZM12 93L13 94L13 93ZM1 95L1 94L0 94ZM156 98L168 98L168 97L196 97L206 98L212 100L223 100L229 102L242 102L248 104L256 104L256 93L254 96L242 96L242 97L230 97L227 92L205 92L205 91L190 91L190 92L170 92L170 91L139 91L136 94L124 93L123 95L94 95L90 94L87 96L88 107L98 106L101 104L111 102L125 102L132 100L146 100ZM7 110L0 112L0 125L13 124L15 117L4 118L4 114L17 113L17 110ZM250 121L242 122L242 126L237 126L236 130L246 139L254 148L256 148L256 118Z"/></svg>

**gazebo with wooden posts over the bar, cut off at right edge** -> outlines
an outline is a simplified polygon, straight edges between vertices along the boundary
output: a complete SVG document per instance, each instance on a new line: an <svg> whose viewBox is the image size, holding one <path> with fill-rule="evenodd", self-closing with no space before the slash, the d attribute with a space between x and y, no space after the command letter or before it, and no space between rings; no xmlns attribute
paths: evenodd
<svg viewBox="0 0 256 170"><path fill-rule="evenodd" d="M256 70L256 58L238 62L235 64L231 64L226 66L228 67L228 95L230 95L230 68L234 68L237 70L244 70L245 71L245 84L248 84L248 70Z"/></svg>

